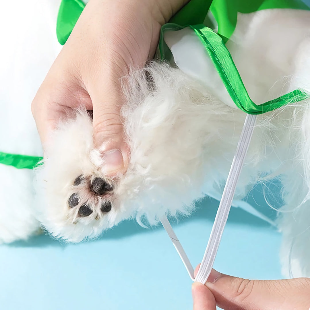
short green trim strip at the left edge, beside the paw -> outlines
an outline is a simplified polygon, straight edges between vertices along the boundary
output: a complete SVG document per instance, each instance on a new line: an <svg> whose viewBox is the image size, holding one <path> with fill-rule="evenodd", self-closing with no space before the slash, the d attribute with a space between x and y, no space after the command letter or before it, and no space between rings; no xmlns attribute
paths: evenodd
<svg viewBox="0 0 310 310"><path fill-rule="evenodd" d="M33 169L42 159L43 157L0 152L0 164L13 166L17 169Z"/></svg>

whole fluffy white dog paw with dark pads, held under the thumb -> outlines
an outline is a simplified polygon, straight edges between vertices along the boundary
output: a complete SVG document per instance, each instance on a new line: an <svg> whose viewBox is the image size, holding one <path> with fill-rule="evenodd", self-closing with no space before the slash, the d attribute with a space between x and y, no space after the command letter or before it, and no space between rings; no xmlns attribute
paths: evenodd
<svg viewBox="0 0 310 310"><path fill-rule="evenodd" d="M100 153L92 134L87 112L78 111L53 133L37 172L38 218L53 236L72 242L100 235L124 215L115 194L118 179L94 163Z"/></svg>

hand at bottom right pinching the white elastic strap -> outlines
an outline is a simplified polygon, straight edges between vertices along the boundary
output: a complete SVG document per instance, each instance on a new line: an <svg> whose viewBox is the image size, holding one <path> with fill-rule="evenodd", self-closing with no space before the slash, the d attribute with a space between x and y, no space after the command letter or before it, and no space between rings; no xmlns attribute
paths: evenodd
<svg viewBox="0 0 310 310"><path fill-rule="evenodd" d="M196 273L198 268L196 268ZM309 310L310 279L247 280L212 269L205 285L192 286L193 310Z"/></svg>

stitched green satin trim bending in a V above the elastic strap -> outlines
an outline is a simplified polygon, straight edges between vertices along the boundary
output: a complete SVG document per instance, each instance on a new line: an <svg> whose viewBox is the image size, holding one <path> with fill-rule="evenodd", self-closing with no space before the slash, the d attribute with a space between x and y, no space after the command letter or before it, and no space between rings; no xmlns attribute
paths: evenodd
<svg viewBox="0 0 310 310"><path fill-rule="evenodd" d="M163 39L164 31L180 30L185 27L190 27L193 29L197 36L200 38L230 97L237 105L237 107L242 111L248 114L262 114L280 108L283 105L289 103L302 101L309 97L307 93L296 89L286 95L282 95L281 97L270 100L263 104L255 104L250 99L250 96L246 91L246 87L242 82L240 74L232 60L232 56L225 46L224 41L212 29L206 27L203 24L188 26L180 26L177 24L163 25L159 42L159 53L162 60L169 60L172 57L171 52Z"/></svg>

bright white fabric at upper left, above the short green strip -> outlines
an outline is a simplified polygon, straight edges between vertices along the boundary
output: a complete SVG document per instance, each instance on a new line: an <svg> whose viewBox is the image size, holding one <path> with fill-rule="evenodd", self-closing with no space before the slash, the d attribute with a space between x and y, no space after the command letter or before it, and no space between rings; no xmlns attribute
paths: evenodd
<svg viewBox="0 0 310 310"><path fill-rule="evenodd" d="M55 31L59 5L60 0L2 4L0 107L6 117L0 122L1 152L42 156L30 105L61 49Z"/></svg>

